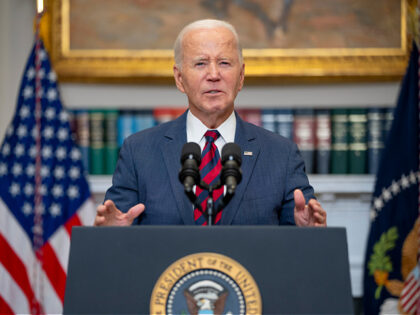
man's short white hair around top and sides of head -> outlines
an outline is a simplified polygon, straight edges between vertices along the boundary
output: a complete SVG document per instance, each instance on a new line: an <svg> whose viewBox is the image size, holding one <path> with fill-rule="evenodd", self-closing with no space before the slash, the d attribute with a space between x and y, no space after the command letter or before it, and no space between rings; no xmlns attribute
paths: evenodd
<svg viewBox="0 0 420 315"><path fill-rule="evenodd" d="M232 32L235 41L236 41L236 47L238 49L238 56L239 61L242 64L243 63L243 57L242 57L242 47L239 42L239 36L236 32L235 28L232 24L221 21L221 20L212 20L212 19L206 19L206 20L198 20L195 22L192 22L185 26L181 32L179 32L178 37L175 40L174 44L174 56L175 56L175 64L176 66L181 69L182 67L182 40L184 39L185 34L187 34L189 31L197 30L197 29L213 29L217 27L224 27Z"/></svg>

